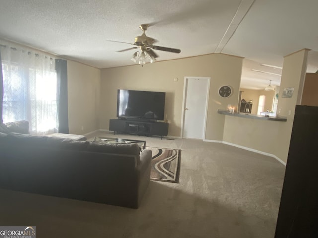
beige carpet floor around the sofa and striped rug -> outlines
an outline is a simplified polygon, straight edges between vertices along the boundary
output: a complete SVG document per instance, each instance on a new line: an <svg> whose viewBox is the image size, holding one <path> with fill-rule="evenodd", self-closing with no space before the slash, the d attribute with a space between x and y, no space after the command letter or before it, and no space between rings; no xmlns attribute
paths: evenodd
<svg viewBox="0 0 318 238"><path fill-rule="evenodd" d="M273 238L285 167L272 157L193 139L95 135L181 149L179 183L151 181L139 209L0 189L0 225L45 238Z"/></svg>

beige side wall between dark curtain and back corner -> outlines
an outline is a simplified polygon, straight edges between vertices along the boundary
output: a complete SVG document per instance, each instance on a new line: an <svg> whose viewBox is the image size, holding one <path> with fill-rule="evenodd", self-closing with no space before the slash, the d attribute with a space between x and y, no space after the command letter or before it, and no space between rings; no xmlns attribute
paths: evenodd
<svg viewBox="0 0 318 238"><path fill-rule="evenodd" d="M71 134L99 129L100 69L68 60L68 112Z"/></svg>

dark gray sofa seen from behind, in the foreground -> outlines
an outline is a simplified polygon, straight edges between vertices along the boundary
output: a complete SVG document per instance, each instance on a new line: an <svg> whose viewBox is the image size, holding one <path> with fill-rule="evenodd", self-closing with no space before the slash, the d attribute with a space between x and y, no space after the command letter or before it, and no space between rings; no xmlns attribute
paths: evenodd
<svg viewBox="0 0 318 238"><path fill-rule="evenodd" d="M137 144L0 132L3 189L138 208L150 165L151 151Z"/></svg>

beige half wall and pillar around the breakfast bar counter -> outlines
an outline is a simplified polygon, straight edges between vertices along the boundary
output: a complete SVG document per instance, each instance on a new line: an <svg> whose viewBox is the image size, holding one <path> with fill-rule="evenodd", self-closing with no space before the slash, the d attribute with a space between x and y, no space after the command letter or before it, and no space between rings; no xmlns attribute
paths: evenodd
<svg viewBox="0 0 318 238"><path fill-rule="evenodd" d="M307 66L307 50L284 58L278 99L278 114L287 122L225 116L223 141L271 154L287 162L295 106L303 89ZM294 87L292 98L282 98L284 88Z"/></svg>

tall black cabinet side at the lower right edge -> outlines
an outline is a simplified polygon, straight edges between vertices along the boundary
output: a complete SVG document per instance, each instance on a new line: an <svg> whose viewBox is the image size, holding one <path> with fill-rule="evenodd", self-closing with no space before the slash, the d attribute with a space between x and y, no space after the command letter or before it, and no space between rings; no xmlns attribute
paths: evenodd
<svg viewBox="0 0 318 238"><path fill-rule="evenodd" d="M275 238L318 237L317 146L318 107L297 105Z"/></svg>

